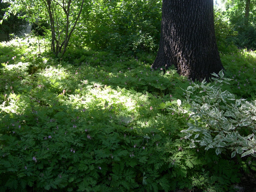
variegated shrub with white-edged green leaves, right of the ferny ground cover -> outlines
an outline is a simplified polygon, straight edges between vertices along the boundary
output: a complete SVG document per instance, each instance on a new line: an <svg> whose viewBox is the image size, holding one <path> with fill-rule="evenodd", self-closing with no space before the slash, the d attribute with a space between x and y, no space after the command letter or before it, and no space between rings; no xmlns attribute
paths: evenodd
<svg viewBox="0 0 256 192"><path fill-rule="evenodd" d="M231 157L236 153L256 157L256 101L235 99L233 94L221 89L222 83L231 79L223 78L222 71L214 76L215 85L203 81L186 90L193 123L187 123L189 128L182 132L192 142L189 146L194 148L198 143L205 150L214 148L217 155L228 150L232 152Z"/></svg>

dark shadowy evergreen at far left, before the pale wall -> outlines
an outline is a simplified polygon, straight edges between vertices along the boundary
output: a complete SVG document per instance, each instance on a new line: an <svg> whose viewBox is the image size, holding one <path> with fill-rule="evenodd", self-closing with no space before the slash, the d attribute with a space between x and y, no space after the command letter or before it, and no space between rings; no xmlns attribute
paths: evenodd
<svg viewBox="0 0 256 192"><path fill-rule="evenodd" d="M25 19L20 18L19 14L9 14L8 21L3 20L5 15L5 11L8 7L8 3L3 3L0 1L0 33L7 35L7 41L9 41L9 34L14 33L15 35L19 35L26 29L27 21Z"/></svg>

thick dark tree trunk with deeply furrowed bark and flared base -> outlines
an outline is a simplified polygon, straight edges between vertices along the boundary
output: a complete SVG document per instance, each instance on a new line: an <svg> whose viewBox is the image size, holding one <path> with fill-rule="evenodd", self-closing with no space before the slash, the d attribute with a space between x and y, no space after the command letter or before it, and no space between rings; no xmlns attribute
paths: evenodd
<svg viewBox="0 0 256 192"><path fill-rule="evenodd" d="M161 38L152 68L174 65L180 75L208 81L223 66L214 30L213 0L163 0Z"/></svg>

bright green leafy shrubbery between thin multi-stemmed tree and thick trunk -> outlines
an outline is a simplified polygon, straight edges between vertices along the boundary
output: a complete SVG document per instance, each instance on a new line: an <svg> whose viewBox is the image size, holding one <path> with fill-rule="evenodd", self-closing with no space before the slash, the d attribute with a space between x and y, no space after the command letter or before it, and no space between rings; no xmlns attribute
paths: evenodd
<svg viewBox="0 0 256 192"><path fill-rule="evenodd" d="M115 54L152 52L158 48L161 1L88 1L74 45L108 49ZM81 42L82 41L82 42Z"/></svg>

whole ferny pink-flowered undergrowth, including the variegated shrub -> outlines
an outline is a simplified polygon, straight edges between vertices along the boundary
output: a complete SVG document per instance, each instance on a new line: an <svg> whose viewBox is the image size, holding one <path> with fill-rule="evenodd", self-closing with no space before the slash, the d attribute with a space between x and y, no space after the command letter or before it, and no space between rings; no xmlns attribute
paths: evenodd
<svg viewBox="0 0 256 192"><path fill-rule="evenodd" d="M255 171L255 52L221 55L206 84L154 55L31 42L0 45L0 191L236 191Z"/></svg>

